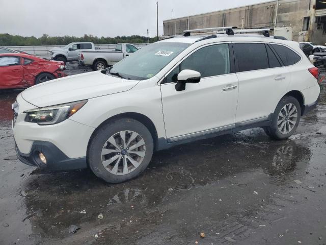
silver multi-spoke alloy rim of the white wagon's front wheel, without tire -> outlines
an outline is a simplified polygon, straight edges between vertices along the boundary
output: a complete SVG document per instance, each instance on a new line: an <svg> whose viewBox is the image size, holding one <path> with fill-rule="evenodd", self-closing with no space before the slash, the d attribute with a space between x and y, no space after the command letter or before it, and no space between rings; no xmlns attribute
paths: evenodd
<svg viewBox="0 0 326 245"><path fill-rule="evenodd" d="M138 168L146 153L140 134L125 130L115 133L104 143L101 159L104 168L114 175L126 175Z"/></svg>

